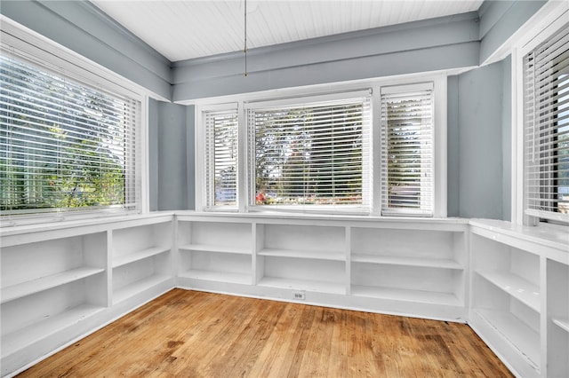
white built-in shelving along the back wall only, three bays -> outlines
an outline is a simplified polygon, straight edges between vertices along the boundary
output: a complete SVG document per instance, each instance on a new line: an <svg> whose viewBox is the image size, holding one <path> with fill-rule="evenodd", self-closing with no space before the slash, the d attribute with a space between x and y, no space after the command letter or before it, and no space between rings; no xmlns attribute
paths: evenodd
<svg viewBox="0 0 569 378"><path fill-rule="evenodd" d="M176 218L179 287L466 320L465 220Z"/></svg>

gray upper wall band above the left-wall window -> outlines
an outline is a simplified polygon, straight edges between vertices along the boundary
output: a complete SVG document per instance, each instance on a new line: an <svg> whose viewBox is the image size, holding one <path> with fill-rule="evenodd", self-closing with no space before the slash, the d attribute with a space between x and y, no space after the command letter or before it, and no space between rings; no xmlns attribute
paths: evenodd
<svg viewBox="0 0 569 378"><path fill-rule="evenodd" d="M157 96L172 98L170 61L91 3L2 0L0 12Z"/></svg>

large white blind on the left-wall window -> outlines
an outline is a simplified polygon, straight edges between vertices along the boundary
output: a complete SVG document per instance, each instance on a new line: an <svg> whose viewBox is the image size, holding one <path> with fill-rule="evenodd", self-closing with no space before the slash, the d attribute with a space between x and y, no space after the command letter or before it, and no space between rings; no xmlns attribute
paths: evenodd
<svg viewBox="0 0 569 378"><path fill-rule="evenodd" d="M0 54L3 215L138 209L140 101Z"/></svg>

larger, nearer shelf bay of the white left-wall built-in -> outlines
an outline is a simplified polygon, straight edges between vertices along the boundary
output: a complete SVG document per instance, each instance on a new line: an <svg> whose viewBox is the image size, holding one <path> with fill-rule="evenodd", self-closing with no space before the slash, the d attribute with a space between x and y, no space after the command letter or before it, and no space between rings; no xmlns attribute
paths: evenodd
<svg viewBox="0 0 569 378"><path fill-rule="evenodd" d="M106 233L39 236L2 240L3 362L108 305Z"/></svg>

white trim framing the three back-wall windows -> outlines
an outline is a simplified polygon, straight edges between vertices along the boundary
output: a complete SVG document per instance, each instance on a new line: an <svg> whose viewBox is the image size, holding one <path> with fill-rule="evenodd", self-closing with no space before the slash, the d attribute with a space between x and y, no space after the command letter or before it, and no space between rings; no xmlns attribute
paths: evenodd
<svg viewBox="0 0 569 378"><path fill-rule="evenodd" d="M298 104L299 98L325 98L326 96L335 96L339 92L359 91L362 88L372 89L371 111L373 113L373 124L371 130L372 138L372 154L373 154L373 187L372 187L372 208L369 212L362 213L361 209L350 213L349 209L315 209L318 214L343 214L343 215L362 215L362 216L381 216L381 164L380 159L381 151L381 117L375 115L381 109L381 87L383 86L397 86L409 85L416 83L432 82L435 88L435 169L434 169L434 188L435 196L433 203L433 218L447 216L447 75L456 75L455 72L438 72L426 73L423 75L402 75L392 78L377 78L365 81L354 81L348 83L327 83L325 85L307 86L298 88L287 88L281 90L263 91L259 93L244 93L231 96L223 96L222 98L204 98L201 100L192 101L196 106L195 112L195 161L196 161L196 211L211 211L205 209L205 193L204 193L204 179L205 179L205 161L204 161L204 122L203 112L214 109L216 106L227 106L233 104L237 105L238 122L239 122L239 137L238 143L241 146L246 146L247 143L247 128L243 127L246 121L245 107L252 103L268 103L268 101L285 100L291 98L291 102ZM254 190L252 183L247 182L250 175L247 172L247 148L238 149L239 166L237 169L237 211L240 213L251 212L247 204L250 191ZM223 209L221 209L223 210ZM227 211L227 210L226 210ZM286 209L271 210L272 212L288 213ZM314 211L307 211L306 209L290 210L295 214L314 213ZM408 215L407 217L413 217Z"/></svg>

